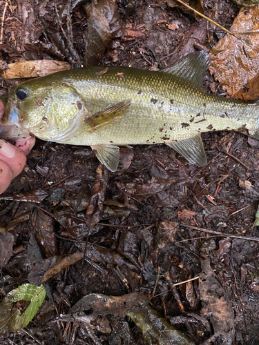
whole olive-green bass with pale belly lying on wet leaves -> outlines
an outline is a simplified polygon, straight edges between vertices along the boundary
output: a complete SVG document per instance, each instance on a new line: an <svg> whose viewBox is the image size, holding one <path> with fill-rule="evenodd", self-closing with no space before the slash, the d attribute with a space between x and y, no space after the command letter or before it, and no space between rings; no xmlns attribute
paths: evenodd
<svg viewBox="0 0 259 345"><path fill-rule="evenodd" d="M86 67L19 84L3 116L3 139L30 136L90 146L116 171L119 147L166 144L197 166L207 164L202 132L236 130L259 139L258 101L206 92L209 54L195 52L160 71Z"/></svg>

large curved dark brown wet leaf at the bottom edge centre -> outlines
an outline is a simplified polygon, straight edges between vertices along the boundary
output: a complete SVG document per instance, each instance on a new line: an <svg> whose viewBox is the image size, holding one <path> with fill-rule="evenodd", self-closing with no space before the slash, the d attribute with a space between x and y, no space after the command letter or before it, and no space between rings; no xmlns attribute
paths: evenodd
<svg viewBox="0 0 259 345"><path fill-rule="evenodd" d="M137 325L147 344L158 345L193 345L194 343L177 328L171 326L157 311L148 306L148 298L141 293L124 296L106 296L90 294L82 297L72 308L73 317L86 315L91 310L91 317L113 315L130 317ZM92 321L93 322L93 321Z"/></svg>

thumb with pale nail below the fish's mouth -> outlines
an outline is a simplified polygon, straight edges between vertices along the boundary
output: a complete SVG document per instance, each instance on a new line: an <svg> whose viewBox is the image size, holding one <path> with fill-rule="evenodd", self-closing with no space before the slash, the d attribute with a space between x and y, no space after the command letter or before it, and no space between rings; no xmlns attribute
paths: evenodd
<svg viewBox="0 0 259 345"><path fill-rule="evenodd" d="M0 139L0 161L5 162L10 167L12 180L21 173L23 167L26 165L26 156L16 146Z"/></svg>

